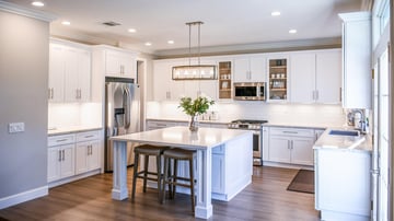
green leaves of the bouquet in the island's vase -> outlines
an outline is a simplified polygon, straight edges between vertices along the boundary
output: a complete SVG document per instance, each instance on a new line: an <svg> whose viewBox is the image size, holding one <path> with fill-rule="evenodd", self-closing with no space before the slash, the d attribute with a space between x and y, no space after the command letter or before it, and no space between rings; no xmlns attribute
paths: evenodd
<svg viewBox="0 0 394 221"><path fill-rule="evenodd" d="M178 108L182 107L187 115L196 116L206 113L212 104L215 104L213 101L202 96L198 96L194 101L192 101L192 97L182 97Z"/></svg>

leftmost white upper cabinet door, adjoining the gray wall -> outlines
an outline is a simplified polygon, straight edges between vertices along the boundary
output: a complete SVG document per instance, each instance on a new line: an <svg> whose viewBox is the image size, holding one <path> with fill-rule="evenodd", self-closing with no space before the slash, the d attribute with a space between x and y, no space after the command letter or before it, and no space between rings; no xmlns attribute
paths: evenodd
<svg viewBox="0 0 394 221"><path fill-rule="evenodd" d="M49 45L49 102L62 102L65 100L65 60L63 48L56 44Z"/></svg>

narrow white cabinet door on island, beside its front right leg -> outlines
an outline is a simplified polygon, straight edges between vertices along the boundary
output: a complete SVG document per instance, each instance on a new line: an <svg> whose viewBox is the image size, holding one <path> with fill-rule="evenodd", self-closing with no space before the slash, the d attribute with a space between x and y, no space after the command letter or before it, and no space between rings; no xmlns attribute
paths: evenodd
<svg viewBox="0 0 394 221"><path fill-rule="evenodd" d="M212 154L212 193L224 193L224 155Z"/></svg>

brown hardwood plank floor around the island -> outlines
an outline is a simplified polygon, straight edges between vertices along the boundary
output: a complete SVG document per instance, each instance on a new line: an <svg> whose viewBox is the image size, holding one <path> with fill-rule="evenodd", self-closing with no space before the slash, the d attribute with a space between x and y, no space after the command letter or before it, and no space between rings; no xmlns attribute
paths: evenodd
<svg viewBox="0 0 394 221"><path fill-rule="evenodd" d="M131 184L132 170L128 170ZM314 195L286 190L297 170L254 166L253 182L230 202L213 200L210 220L320 220L314 210ZM141 185L141 182L138 183ZM158 202L155 189L142 193L136 200L112 200L112 174L95 175L49 189L49 196L0 210L5 220L198 220L190 210L187 195ZM131 187L129 186L129 189Z"/></svg>

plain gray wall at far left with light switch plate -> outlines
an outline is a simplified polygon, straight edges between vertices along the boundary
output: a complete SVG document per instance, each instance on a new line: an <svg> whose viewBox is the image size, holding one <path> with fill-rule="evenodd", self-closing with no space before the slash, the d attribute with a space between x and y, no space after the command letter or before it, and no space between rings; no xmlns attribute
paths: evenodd
<svg viewBox="0 0 394 221"><path fill-rule="evenodd" d="M1 209L16 195L47 191L49 24L0 5L0 33ZM25 131L9 133L10 123Z"/></svg>

